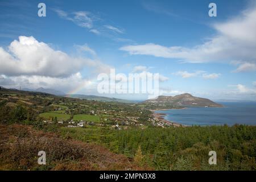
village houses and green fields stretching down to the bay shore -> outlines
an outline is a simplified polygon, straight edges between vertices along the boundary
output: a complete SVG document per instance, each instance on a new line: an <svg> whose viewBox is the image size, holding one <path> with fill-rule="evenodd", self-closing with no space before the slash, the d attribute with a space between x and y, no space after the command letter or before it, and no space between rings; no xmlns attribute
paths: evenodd
<svg viewBox="0 0 256 182"><path fill-rule="evenodd" d="M81 106L77 105L76 106ZM89 110L86 114L77 113L76 109L71 106L51 104L51 110L48 113L42 113L44 123L57 123L64 127L111 127L116 130L126 130L128 127L141 127L146 125L158 127L180 126L177 123L168 122L158 113L151 113L147 115L146 122L141 122L140 117L131 117L127 110L114 110L114 109L100 109ZM71 108L71 109L69 109ZM138 114L143 114L146 109L137 110ZM75 113L75 114L74 114ZM77 114L76 114L77 113ZM64 117L69 115L69 117ZM65 119L61 119L61 116ZM47 118L47 119L46 119Z"/></svg>

